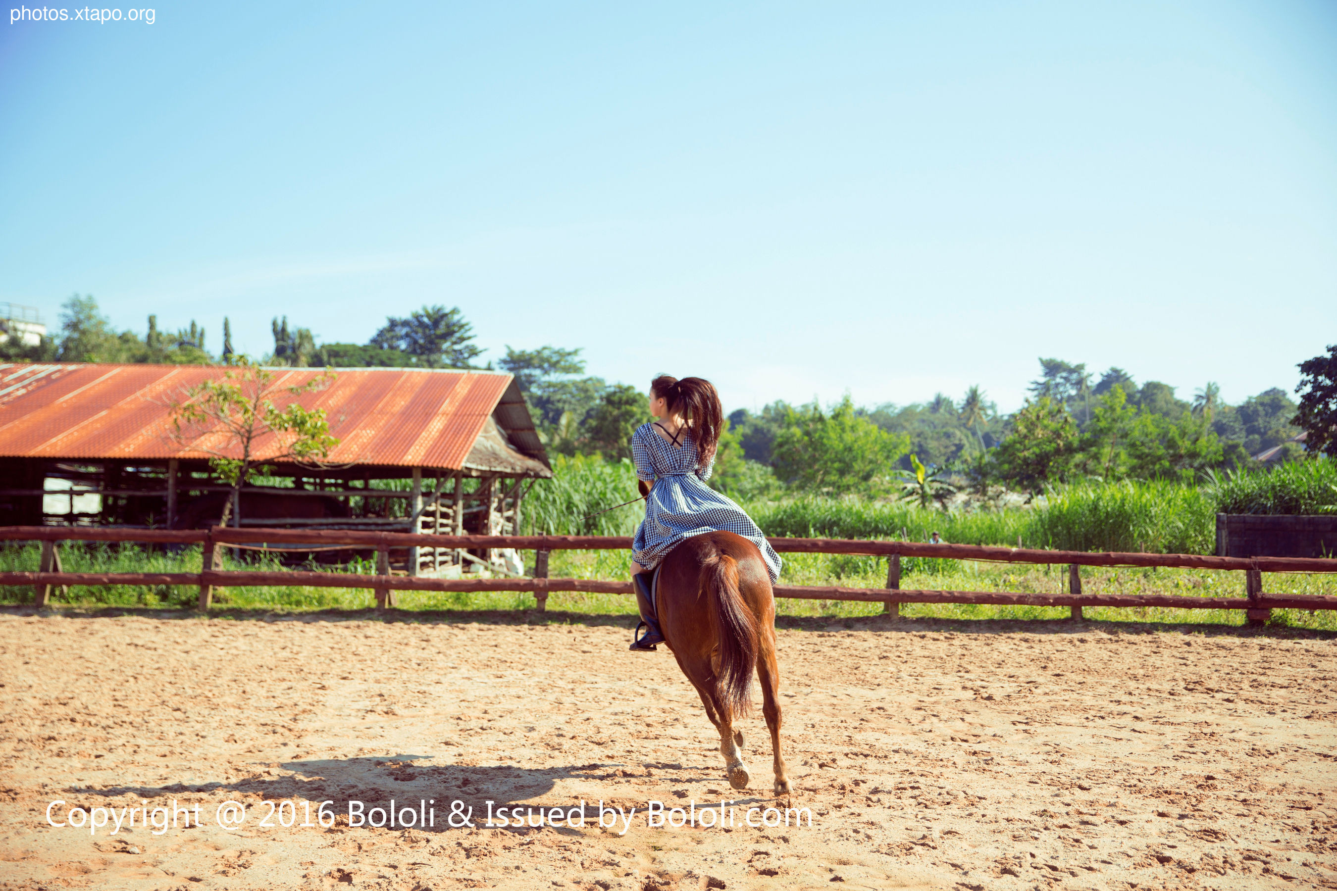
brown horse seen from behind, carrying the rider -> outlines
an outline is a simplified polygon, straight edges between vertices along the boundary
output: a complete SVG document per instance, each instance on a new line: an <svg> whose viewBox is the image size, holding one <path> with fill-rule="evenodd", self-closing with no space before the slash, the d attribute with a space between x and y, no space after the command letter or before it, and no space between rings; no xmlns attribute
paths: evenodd
<svg viewBox="0 0 1337 891"><path fill-rule="evenodd" d="M789 795L779 755L775 597L757 545L731 532L685 540L660 564L655 608L664 643L719 731L725 772L735 789L747 787L749 775L743 733L734 729L734 719L751 707L757 671L775 761L775 796Z"/></svg>

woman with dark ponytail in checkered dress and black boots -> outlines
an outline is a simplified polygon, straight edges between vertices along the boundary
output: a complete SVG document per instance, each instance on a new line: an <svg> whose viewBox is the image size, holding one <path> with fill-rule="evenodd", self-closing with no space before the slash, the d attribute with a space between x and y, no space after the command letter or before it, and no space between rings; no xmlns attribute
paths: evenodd
<svg viewBox="0 0 1337 891"><path fill-rule="evenodd" d="M667 374L650 382L652 423L636 427L631 457L636 478L651 484L646 518L632 542L632 581L646 633L634 636L631 649L652 651L664 640L651 600L651 572L686 538L709 532L733 532L757 545L774 584L779 556L751 517L726 496L706 485L715 464L723 426L719 393L710 381ZM644 492L644 486L642 489ZM636 627L640 632L640 625Z"/></svg>

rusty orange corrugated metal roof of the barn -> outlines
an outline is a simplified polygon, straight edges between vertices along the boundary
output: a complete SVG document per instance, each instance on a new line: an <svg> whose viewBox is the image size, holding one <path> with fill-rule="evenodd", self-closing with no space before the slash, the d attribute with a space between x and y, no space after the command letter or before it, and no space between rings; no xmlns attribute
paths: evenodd
<svg viewBox="0 0 1337 891"><path fill-rule="evenodd" d="M324 371L269 370L279 409L294 401L283 387ZM206 449L217 438L172 438L171 405L185 399L189 387L226 371L189 365L0 363L0 457L210 457ZM325 409L330 434L340 439L332 464L459 470L509 383L509 374L337 369L330 386L295 401ZM281 448L274 437L258 446L259 460Z"/></svg>

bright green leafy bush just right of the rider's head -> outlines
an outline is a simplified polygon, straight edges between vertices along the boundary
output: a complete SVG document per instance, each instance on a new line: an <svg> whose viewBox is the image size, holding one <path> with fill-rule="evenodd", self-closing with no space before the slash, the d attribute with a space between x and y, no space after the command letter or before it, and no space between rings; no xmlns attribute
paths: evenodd
<svg viewBox="0 0 1337 891"><path fill-rule="evenodd" d="M773 449L775 476L808 492L841 494L885 488L909 437L854 413L846 395L830 413L817 405L790 410Z"/></svg>

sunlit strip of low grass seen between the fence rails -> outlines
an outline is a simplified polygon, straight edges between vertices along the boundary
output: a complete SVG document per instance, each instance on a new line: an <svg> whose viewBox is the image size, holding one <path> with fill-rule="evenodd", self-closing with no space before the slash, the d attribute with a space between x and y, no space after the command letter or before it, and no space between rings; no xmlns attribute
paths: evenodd
<svg viewBox="0 0 1337 891"><path fill-rule="evenodd" d="M199 549L187 548L176 553L144 553L138 548L111 548L104 545L63 545L64 566L70 572L198 572ZM525 565L532 565L532 553L523 554ZM0 570L33 570L37 568L39 546L28 544L0 549ZM853 557L844 554L785 554L782 584L844 585L849 588L881 588L886 584L886 561L880 557ZM555 552L550 564L554 577L570 578L627 578L630 553L623 550ZM231 558L226 569L278 568L273 557L259 557L249 562ZM338 568L312 566L336 570ZM370 566L352 565L350 572L370 572ZM902 588L941 590L1015 590L1035 593L1062 593L1066 589L1067 568L1062 565L985 564L960 560L904 560ZM1191 569L1107 569L1086 566L1082 570L1082 589L1086 593L1122 594L1186 594L1195 597L1242 597L1243 574L1238 572L1203 572ZM1309 576L1298 573L1267 573L1263 576L1267 593L1337 594L1337 576ZM110 586L72 588L68 594L56 592L53 600L86 606L171 606L190 608L195 604L197 588ZM21 604L32 597L31 588L0 588L0 602ZM533 596L512 592L400 592L400 606L405 610L512 610L531 609ZM217 592L215 602L246 610L303 612L316 609L370 609L374 605L369 589L346 588L230 588ZM587 614L632 614L631 597L620 594L580 594L558 592L548 597L548 609ZM777 602L782 616L826 616L833 620L874 616L881 604L850 601L786 600ZM1063 618L1067 608L1047 606L984 606L967 604L906 604L901 614L937 618ZM1215 609L1122 609L1087 608L1086 616L1096 621L1131 621L1162 624L1221 624L1241 625L1243 613ZM1329 610L1309 614L1306 610L1274 610L1273 622L1294 628L1337 631L1337 616Z"/></svg>

